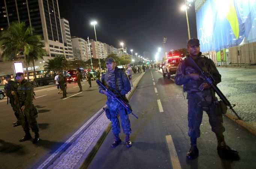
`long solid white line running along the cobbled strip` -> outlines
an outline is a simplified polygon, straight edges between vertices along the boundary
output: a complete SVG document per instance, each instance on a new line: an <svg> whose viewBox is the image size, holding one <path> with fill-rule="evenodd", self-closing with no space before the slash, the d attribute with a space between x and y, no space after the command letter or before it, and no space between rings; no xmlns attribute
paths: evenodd
<svg viewBox="0 0 256 169"><path fill-rule="evenodd" d="M104 106L104 107L105 107L105 106ZM74 135L72 135L64 144L62 144L62 146L60 146L60 148L58 148L58 150L56 150L53 154L51 154L51 156L50 156L47 160L45 160L44 163L42 163L42 164L38 167L38 169L42 169L42 168L44 168L48 163L50 163L51 160L53 160L53 159L55 158L55 156L57 156L58 153L60 153L60 152L64 149L64 147L66 147L66 146L84 129L84 127L87 127L87 125L88 125L89 123L91 123L91 121L92 121L101 111L102 111L102 108L101 108L95 115L93 115L93 117L90 118L90 120L88 120L80 129L78 129L77 132L75 132Z"/></svg>

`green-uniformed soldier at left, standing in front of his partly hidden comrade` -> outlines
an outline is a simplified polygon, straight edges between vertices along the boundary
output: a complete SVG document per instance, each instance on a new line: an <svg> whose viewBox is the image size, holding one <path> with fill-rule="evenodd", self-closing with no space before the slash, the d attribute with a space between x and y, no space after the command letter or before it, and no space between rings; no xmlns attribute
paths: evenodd
<svg viewBox="0 0 256 169"><path fill-rule="evenodd" d="M39 127L36 121L36 117L38 117L38 109L33 105L33 99L34 99L33 85L24 79L23 73L16 73L16 80L18 82L17 95L20 100L21 109L23 109L23 112L25 115L24 117L21 111L19 112L21 125L25 132L25 136L20 139L20 142L23 142L32 138L29 132L30 130L29 126L30 126L32 129L32 132L35 133L33 144L36 144L39 141ZM11 93L13 96L15 96L14 91L12 91ZM18 102L18 100L15 100L15 102Z"/></svg>

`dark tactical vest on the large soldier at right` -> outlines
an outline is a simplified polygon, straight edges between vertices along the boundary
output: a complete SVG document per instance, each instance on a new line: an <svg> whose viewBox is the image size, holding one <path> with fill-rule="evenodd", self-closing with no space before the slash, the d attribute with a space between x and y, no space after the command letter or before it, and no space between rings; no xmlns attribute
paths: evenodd
<svg viewBox="0 0 256 169"><path fill-rule="evenodd" d="M208 58L206 58L204 55L201 55L197 60L194 60L196 64L200 67L200 69L203 70L203 72L210 72L207 67L209 67ZM185 65L186 65L186 59L185 59ZM194 70L190 66L185 66L185 75L189 75L191 73L198 73L196 70ZM203 79L199 81L195 81L194 79L190 79L187 83L184 84L184 90L190 91L190 92L200 92L198 89L199 86L203 83Z"/></svg>

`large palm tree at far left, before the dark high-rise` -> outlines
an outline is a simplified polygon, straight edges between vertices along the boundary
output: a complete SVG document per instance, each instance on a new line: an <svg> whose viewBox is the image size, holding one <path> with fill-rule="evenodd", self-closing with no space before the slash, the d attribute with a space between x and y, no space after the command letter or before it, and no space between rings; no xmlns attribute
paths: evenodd
<svg viewBox="0 0 256 169"><path fill-rule="evenodd" d="M0 46L2 47L3 60L12 60L17 56L24 56L26 67L34 59L42 58L46 55L42 49L41 36L32 33L32 27L26 27L25 22L12 22L0 34ZM34 67L35 70L35 67ZM29 71L26 69L27 79L29 80ZM35 71L34 71L35 73Z"/></svg>

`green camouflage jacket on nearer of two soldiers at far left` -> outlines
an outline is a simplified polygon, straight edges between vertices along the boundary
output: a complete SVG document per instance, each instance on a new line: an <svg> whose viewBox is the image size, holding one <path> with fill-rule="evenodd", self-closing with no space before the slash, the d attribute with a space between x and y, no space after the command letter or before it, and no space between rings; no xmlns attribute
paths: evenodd
<svg viewBox="0 0 256 169"><path fill-rule="evenodd" d="M17 87L17 94L21 102L21 106L25 105L30 106L33 104L34 94L33 94L33 85L23 80Z"/></svg>

